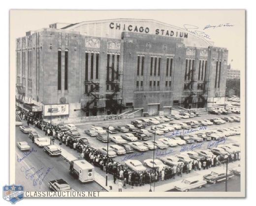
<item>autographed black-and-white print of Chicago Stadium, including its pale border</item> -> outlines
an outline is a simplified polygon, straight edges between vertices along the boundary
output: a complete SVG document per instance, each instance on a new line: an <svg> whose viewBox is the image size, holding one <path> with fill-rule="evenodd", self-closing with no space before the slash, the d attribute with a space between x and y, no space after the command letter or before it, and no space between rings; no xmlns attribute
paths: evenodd
<svg viewBox="0 0 256 206"><path fill-rule="evenodd" d="M245 10L10 10L10 120L12 203L245 197Z"/></svg>

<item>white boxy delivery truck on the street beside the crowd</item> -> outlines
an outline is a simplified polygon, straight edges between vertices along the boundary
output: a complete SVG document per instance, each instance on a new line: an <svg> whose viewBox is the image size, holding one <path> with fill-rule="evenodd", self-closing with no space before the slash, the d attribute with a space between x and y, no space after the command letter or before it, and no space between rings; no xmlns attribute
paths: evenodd
<svg viewBox="0 0 256 206"><path fill-rule="evenodd" d="M73 160L70 162L70 173L81 182L94 181L94 166L86 160Z"/></svg>

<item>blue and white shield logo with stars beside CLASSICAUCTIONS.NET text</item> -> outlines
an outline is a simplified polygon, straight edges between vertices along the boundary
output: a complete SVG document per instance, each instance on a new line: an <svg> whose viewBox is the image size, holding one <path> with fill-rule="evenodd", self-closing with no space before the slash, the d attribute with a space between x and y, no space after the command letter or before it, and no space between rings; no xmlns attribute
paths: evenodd
<svg viewBox="0 0 256 206"><path fill-rule="evenodd" d="M2 187L3 199L15 204L24 198L24 187L22 185L5 185Z"/></svg>

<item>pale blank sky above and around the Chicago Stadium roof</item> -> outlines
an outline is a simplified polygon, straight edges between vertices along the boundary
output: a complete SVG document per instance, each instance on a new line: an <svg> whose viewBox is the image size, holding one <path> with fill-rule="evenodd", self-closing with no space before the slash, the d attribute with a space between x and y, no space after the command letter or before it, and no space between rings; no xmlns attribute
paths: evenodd
<svg viewBox="0 0 256 206"><path fill-rule="evenodd" d="M49 24L77 23L114 18L154 19L184 28L189 24L204 31L215 46L228 49L228 64L231 68L245 69L245 18L242 10L161 10L161 11L56 11L56 10L12 10L10 15L10 46L15 48L15 39L25 36L25 32L48 28ZM232 27L204 29L205 26L224 24ZM12 54L11 54L12 55ZM15 55L15 54L14 54Z"/></svg>

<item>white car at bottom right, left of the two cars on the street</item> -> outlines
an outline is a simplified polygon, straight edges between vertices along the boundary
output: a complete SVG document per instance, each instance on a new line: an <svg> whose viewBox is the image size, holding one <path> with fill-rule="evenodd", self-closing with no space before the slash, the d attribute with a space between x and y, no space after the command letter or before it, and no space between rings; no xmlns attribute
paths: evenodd
<svg viewBox="0 0 256 206"><path fill-rule="evenodd" d="M174 188L182 191L188 192L191 189L201 188L203 185L207 184L207 181L201 179L202 177L189 177L186 179L182 179L181 181L177 181L175 183Z"/></svg>

